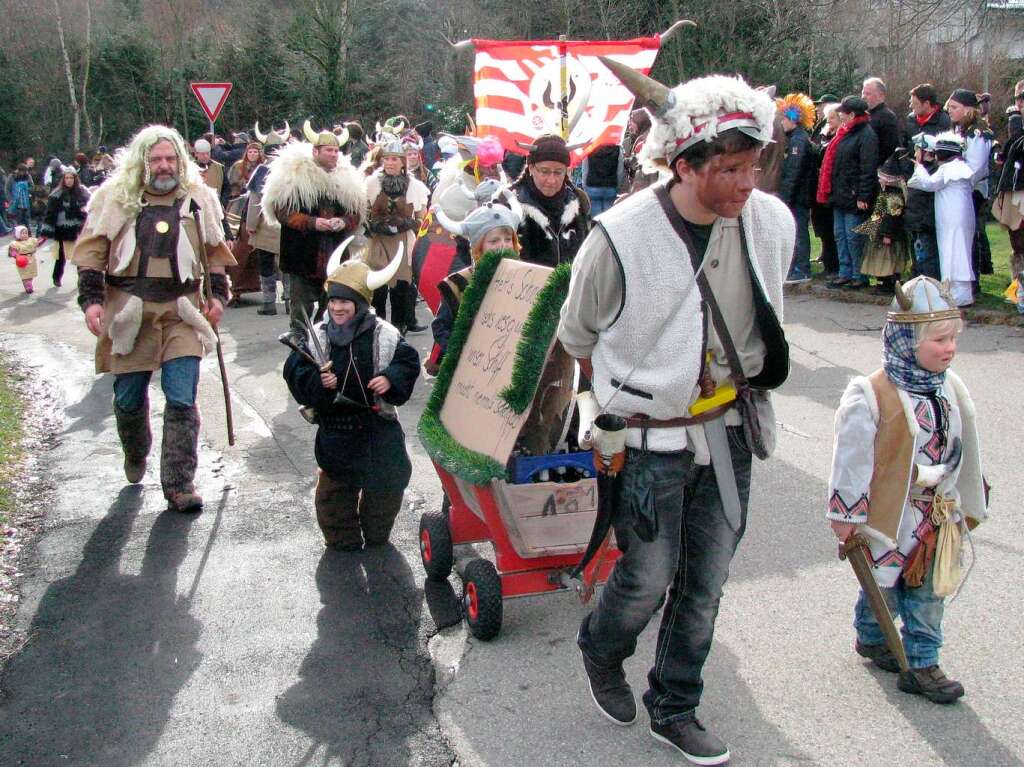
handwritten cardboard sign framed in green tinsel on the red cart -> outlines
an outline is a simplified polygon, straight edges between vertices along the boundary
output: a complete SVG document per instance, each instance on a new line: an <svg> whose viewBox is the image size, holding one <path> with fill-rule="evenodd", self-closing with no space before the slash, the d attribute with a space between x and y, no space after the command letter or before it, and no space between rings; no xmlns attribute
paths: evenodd
<svg viewBox="0 0 1024 767"><path fill-rule="evenodd" d="M551 272L511 259L499 264L441 407L441 423L456 441L499 463L508 460L529 416L513 413L499 393L512 380L522 326Z"/></svg>

